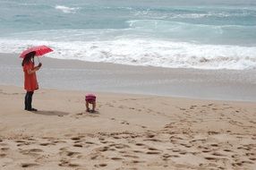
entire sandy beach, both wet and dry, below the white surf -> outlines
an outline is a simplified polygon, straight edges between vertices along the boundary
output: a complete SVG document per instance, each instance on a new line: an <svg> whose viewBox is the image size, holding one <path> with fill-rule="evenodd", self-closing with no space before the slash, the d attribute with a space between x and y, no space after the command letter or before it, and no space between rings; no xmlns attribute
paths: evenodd
<svg viewBox="0 0 256 170"><path fill-rule="evenodd" d="M38 112L23 110L21 60L0 55L0 167L254 169L255 71L40 58ZM85 111L87 93L97 112Z"/></svg>

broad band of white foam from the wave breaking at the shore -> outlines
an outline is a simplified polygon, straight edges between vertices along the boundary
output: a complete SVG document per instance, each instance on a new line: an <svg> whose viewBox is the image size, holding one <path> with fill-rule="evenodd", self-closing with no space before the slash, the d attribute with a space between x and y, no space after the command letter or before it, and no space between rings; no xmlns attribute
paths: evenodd
<svg viewBox="0 0 256 170"><path fill-rule="evenodd" d="M256 47L199 45L147 39L54 42L0 40L1 53L21 53L45 44L54 49L47 56L90 62L196 69L256 69Z"/></svg>

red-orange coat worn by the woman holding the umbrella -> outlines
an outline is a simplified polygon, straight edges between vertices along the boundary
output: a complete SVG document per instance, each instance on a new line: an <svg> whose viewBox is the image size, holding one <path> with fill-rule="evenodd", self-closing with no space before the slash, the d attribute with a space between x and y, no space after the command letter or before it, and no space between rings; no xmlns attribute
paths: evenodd
<svg viewBox="0 0 256 170"><path fill-rule="evenodd" d="M34 69L34 63L30 61L30 63L23 65L23 72L24 72L24 89L27 91L34 91L38 89L38 81L36 72L29 74L28 70Z"/></svg>

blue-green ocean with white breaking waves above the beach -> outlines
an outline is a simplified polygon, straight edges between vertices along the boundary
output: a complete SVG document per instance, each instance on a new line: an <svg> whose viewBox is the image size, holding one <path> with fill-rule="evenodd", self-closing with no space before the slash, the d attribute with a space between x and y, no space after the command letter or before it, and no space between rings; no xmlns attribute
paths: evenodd
<svg viewBox="0 0 256 170"><path fill-rule="evenodd" d="M256 69L256 1L0 0L0 53L207 70Z"/></svg>

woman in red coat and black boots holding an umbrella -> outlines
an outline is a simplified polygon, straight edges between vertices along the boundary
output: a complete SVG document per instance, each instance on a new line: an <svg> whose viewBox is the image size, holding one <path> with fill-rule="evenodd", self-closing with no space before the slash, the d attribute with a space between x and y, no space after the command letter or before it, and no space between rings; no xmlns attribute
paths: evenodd
<svg viewBox="0 0 256 170"><path fill-rule="evenodd" d="M24 89L27 90L25 96L25 110L28 111L38 111L37 109L32 107L32 97L34 94L34 90L38 89L38 81L36 72L40 69L42 64L38 64L38 66L34 66L34 56L36 52L30 52L25 55L22 61L22 67L24 72Z"/></svg>

